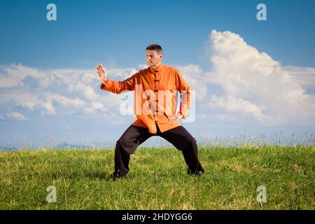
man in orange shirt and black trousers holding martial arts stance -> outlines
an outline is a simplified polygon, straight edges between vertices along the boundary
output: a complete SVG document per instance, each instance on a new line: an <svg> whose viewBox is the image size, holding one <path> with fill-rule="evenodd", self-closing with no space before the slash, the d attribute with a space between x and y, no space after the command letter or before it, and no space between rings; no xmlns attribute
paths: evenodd
<svg viewBox="0 0 315 224"><path fill-rule="evenodd" d="M160 136L182 151L188 165L188 174L200 175L204 169L197 155L196 140L179 123L188 116L190 105L189 85L179 70L162 64L162 48L152 44L146 48L147 69L135 73L124 81L106 77L106 68L97 64L95 71L102 82L101 89L119 94L134 91L134 112L137 120L127 128L116 142L115 172L113 178L129 172L130 154L146 139ZM181 93L181 106L176 111L176 92Z"/></svg>

